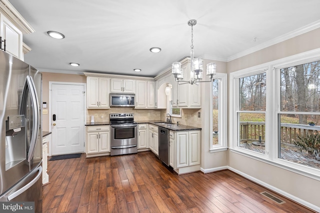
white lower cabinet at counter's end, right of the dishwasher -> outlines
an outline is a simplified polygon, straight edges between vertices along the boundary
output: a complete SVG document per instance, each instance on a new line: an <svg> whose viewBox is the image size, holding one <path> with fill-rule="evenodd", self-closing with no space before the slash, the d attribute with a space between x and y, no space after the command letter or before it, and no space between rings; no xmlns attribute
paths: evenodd
<svg viewBox="0 0 320 213"><path fill-rule="evenodd" d="M178 174L200 170L200 131L170 131L169 156L169 164Z"/></svg>

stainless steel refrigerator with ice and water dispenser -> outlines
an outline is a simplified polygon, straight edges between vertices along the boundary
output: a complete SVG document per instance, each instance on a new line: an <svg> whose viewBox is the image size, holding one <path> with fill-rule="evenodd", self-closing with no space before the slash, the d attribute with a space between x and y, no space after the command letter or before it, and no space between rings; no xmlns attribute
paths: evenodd
<svg viewBox="0 0 320 213"><path fill-rule="evenodd" d="M0 51L0 201L42 211L42 75Z"/></svg>

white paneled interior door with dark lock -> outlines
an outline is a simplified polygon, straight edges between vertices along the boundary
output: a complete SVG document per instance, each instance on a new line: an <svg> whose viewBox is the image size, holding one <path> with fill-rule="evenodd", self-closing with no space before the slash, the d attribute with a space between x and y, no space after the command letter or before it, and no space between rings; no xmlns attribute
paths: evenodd
<svg viewBox="0 0 320 213"><path fill-rule="evenodd" d="M84 152L84 85L51 87L52 155Z"/></svg>

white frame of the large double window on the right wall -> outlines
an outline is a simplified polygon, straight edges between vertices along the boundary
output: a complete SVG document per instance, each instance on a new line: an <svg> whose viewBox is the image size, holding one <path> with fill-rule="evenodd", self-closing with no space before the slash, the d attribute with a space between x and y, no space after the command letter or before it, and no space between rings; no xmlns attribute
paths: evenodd
<svg viewBox="0 0 320 213"><path fill-rule="evenodd" d="M289 162L278 158L278 115L288 114L280 110L280 69L290 66L295 66L299 64L309 63L312 61L320 60L320 48L310 50L307 52L299 53L296 55L288 56L285 58L270 61L264 64L256 65L253 67L248 67L245 69L237 70L230 73L229 78L229 149L231 152L309 177L320 181L320 169L311 168ZM265 154L261 155L256 152L248 151L237 147L237 113L239 107L238 97L238 78L243 76L249 76L255 74L257 70L267 69L266 72L266 85L267 85L267 95L266 95L266 111L265 111L265 135L269 136L268 148L265 147ZM310 112L311 114L317 114L315 112ZM320 114L320 112L318 112ZM296 114L296 113L295 113ZM271 134L276 132L277 134ZM271 143L273 141L273 143Z"/></svg>

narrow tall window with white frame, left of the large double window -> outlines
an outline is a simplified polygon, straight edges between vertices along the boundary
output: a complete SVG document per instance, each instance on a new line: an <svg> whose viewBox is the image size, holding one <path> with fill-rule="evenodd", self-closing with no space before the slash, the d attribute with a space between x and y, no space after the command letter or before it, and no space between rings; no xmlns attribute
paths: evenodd
<svg viewBox="0 0 320 213"><path fill-rule="evenodd" d="M211 84L210 152L227 149L227 75L217 73Z"/></svg>

